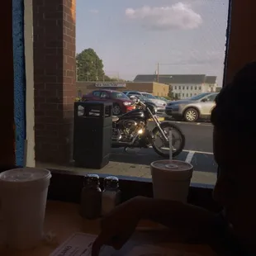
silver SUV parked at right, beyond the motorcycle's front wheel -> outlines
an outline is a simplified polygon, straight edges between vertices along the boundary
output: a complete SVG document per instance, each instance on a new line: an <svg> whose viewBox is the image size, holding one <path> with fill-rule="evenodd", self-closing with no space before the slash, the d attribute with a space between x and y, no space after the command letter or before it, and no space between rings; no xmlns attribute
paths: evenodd
<svg viewBox="0 0 256 256"><path fill-rule="evenodd" d="M165 113L174 119L189 122L209 119L217 95L218 92L205 92L185 100L170 102L165 108Z"/></svg>

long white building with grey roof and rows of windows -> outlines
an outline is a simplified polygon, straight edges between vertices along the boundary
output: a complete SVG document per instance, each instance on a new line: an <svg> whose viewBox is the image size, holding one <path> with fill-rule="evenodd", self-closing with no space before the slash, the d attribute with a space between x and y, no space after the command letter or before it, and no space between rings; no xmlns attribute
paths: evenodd
<svg viewBox="0 0 256 256"><path fill-rule="evenodd" d="M216 76L205 74L139 74L135 77L135 83L159 81L169 85L169 92L173 97L184 99L202 92L216 92Z"/></svg>

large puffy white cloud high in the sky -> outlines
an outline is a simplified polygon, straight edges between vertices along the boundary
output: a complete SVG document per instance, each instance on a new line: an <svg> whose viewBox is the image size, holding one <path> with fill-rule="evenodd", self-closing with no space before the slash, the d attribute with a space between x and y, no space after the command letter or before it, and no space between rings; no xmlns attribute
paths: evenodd
<svg viewBox="0 0 256 256"><path fill-rule="evenodd" d="M154 30L189 30L197 28L202 23L201 16L183 2L170 7L127 8L126 17L140 21L143 26Z"/></svg>

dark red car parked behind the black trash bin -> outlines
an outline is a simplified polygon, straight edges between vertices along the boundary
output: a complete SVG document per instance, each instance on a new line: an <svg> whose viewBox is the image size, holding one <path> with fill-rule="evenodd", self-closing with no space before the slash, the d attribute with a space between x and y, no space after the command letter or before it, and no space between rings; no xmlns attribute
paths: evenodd
<svg viewBox="0 0 256 256"><path fill-rule="evenodd" d="M119 116L135 109L134 102L125 93L113 90L96 90L82 97L83 101L112 102L113 115Z"/></svg>

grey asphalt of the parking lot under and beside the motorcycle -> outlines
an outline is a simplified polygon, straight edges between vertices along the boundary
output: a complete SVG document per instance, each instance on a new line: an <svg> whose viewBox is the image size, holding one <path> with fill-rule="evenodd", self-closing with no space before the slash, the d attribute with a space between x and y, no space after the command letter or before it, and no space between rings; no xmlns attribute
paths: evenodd
<svg viewBox="0 0 256 256"><path fill-rule="evenodd" d="M181 154L175 159L187 161L194 166L194 170L203 173L216 173L216 163L212 153L212 130L210 123L187 123L171 121L177 125L185 135L186 145ZM154 122L149 123L149 129ZM155 160L163 159L154 152L154 149L111 149L111 161L149 165Z"/></svg>

